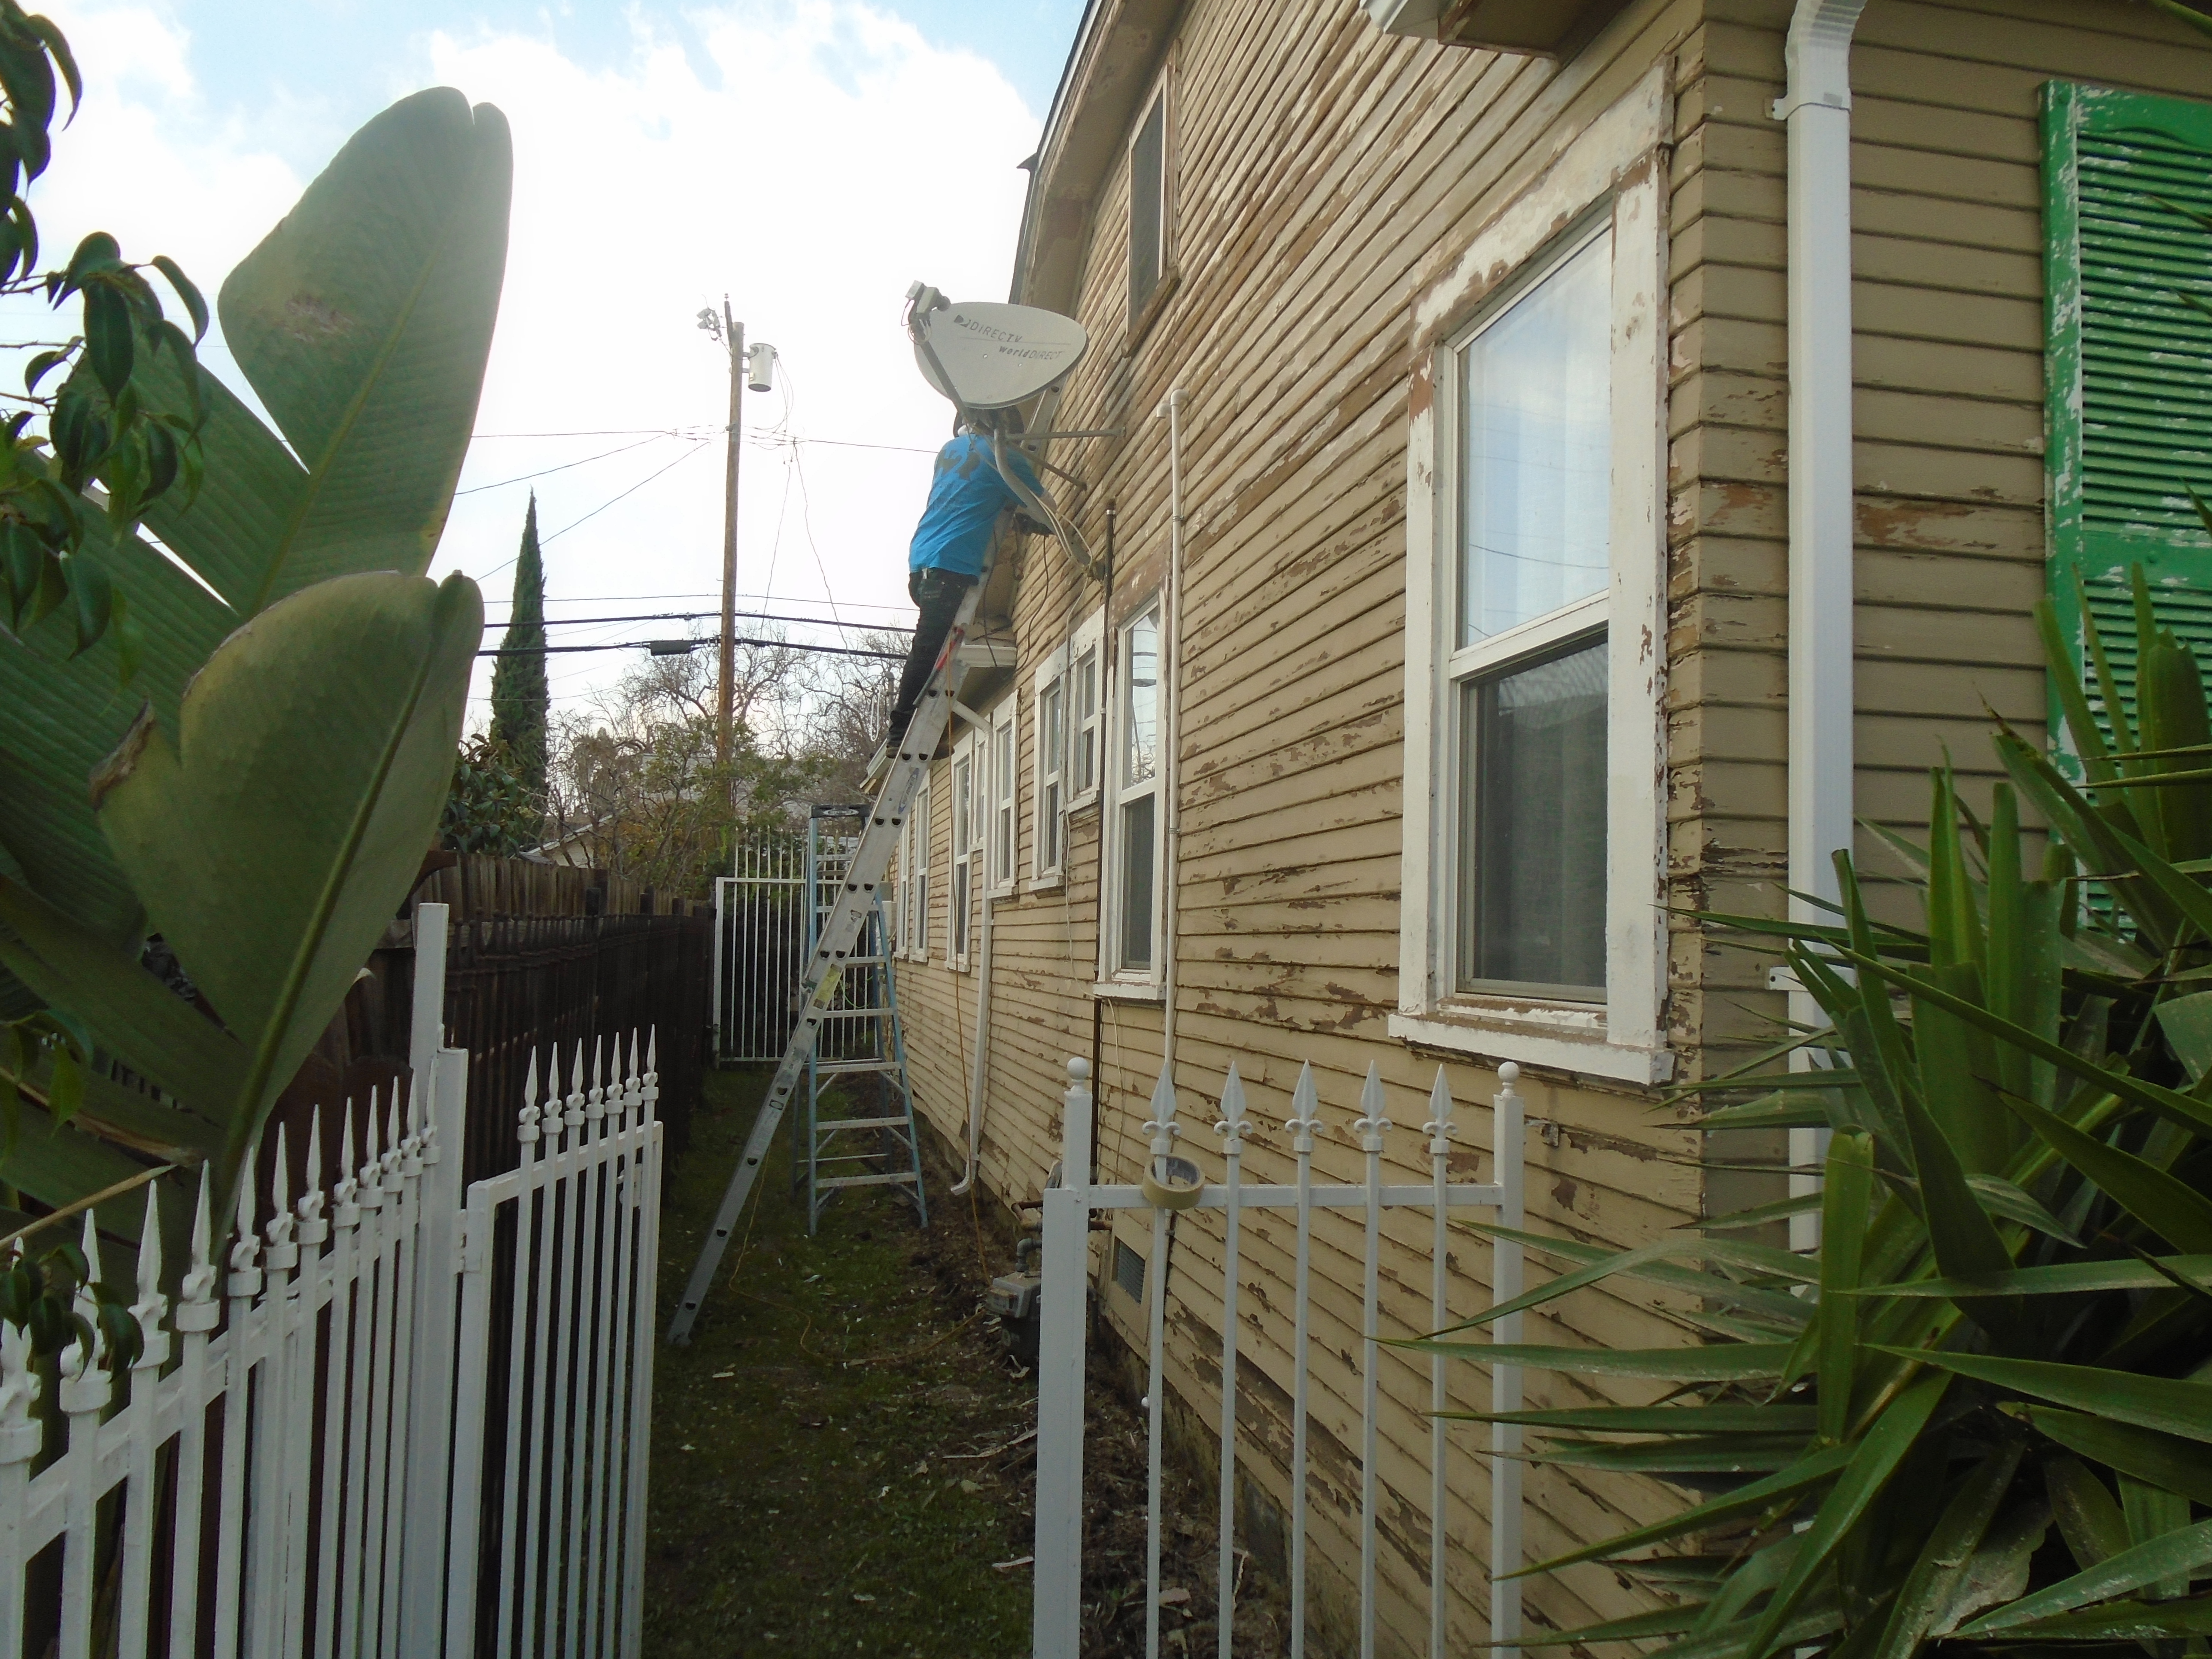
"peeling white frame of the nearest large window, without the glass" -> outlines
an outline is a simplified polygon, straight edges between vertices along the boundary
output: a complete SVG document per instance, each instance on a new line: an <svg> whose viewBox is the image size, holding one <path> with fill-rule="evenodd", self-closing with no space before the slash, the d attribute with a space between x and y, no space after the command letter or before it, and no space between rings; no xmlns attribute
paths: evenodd
<svg viewBox="0 0 2212 1659"><path fill-rule="evenodd" d="M1672 1075L1663 1031L1666 911L1666 66L1599 115L1495 215L1413 301L1407 431L1402 1042L1588 1077ZM1537 617L1489 659L1606 630L1606 993L1604 1002L1453 991L1458 918L1458 349L1522 276L1613 226L1613 575L1604 593ZM1575 223L1571 237L1559 226ZM1493 272L1509 272L1493 281ZM1427 383L1427 385L1420 385ZM1502 650L1500 646L1511 646Z"/></svg>

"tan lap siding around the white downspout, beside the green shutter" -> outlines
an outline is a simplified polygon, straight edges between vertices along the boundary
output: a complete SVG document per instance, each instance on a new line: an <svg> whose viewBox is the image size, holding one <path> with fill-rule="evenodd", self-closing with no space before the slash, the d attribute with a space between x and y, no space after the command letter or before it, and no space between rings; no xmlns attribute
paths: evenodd
<svg viewBox="0 0 2212 1659"><path fill-rule="evenodd" d="M1743 661L1677 703L1708 774L1679 810L1752 860L1785 847L1787 0L1710 0L1677 150L1677 646ZM1927 827L1944 752L1986 801L1989 712L2044 728L2044 321L2037 86L2212 93L2205 40L2119 0L1871 0L1851 53L1860 818ZM1683 159L1697 155L1697 177ZM1690 407L1686 407L1690 405ZM1719 595L1725 591L1725 604ZM1725 710L1725 714L1723 714ZM1725 781L1714 770L1732 768ZM1677 843L1677 858L1683 856ZM1911 916L1900 874L1858 854ZM1708 1026L1708 1040L1717 1033Z"/></svg>

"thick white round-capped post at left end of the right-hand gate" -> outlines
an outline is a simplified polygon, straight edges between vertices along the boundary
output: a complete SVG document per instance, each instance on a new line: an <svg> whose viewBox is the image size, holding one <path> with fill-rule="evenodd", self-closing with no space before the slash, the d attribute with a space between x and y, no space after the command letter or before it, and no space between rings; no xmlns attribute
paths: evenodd
<svg viewBox="0 0 2212 1659"><path fill-rule="evenodd" d="M1044 1192L1037 1340L1035 1659L1077 1659L1084 1613L1084 1360L1091 1325L1091 1062L1068 1062L1060 1186Z"/></svg>

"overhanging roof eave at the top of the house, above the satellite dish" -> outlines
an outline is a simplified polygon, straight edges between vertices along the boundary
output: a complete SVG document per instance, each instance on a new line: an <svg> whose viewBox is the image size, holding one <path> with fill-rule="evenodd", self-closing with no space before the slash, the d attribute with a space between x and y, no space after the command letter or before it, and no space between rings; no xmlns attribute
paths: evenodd
<svg viewBox="0 0 2212 1659"><path fill-rule="evenodd" d="M1183 0L1084 4L1029 175L1009 294L1018 305L1075 307L1091 204L1121 159L1137 100L1150 88L1181 13Z"/></svg>

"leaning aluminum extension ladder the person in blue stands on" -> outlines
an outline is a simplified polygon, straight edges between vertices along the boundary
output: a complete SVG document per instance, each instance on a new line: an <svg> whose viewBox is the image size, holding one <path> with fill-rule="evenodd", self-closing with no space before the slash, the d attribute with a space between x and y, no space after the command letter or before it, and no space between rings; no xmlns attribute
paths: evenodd
<svg viewBox="0 0 2212 1659"><path fill-rule="evenodd" d="M907 721L905 737L898 739L898 754L891 757L883 792L876 796L876 807L869 814L867 830L860 832L860 845L854 849L852 863L845 867L843 883L838 883L836 902L832 902L823 916L821 933L814 940L814 949L807 953L805 971L799 978L801 1002L799 1024L792 1026L792 1046L783 1051L776 1075L768 1084L768 1097L761 1102L761 1115L752 1119L752 1135L745 1139L745 1152L739 1157L737 1170L730 1172L730 1186L721 1194L721 1208L714 1212L714 1225L708 1228L706 1243L699 1248L699 1261L692 1265L690 1281L684 1285L684 1301L677 1303L677 1312L668 1321L670 1343L690 1340L690 1327L697 1323L699 1307L706 1303L706 1294L714 1285L714 1272L721 1267L721 1256L730 1248L730 1234L737 1230L737 1219L745 1212L745 1199L752 1197L752 1183L761 1175L761 1161L768 1157L768 1148L776 1139L776 1126L783 1121L783 1113L790 1108L792 1095L805 1077L807 1062L814 1057L814 1040L821 1033L823 1022L836 1018L834 1002L845 962L858 956L856 947L860 942L860 925L876 914L883 874L891 867L891 852L898 847L898 830L907 821L907 810L914 805L914 792L922 787L922 779L929 774L929 761L938 752L938 743L945 739L945 726L951 721L953 664L960 661L960 646L967 641L969 628L975 624L975 606L982 604L982 588L989 580L991 571L987 566L982 577L960 602L953 626L945 635L945 648L938 653L938 666L929 675L929 686L922 690L914 719Z"/></svg>

